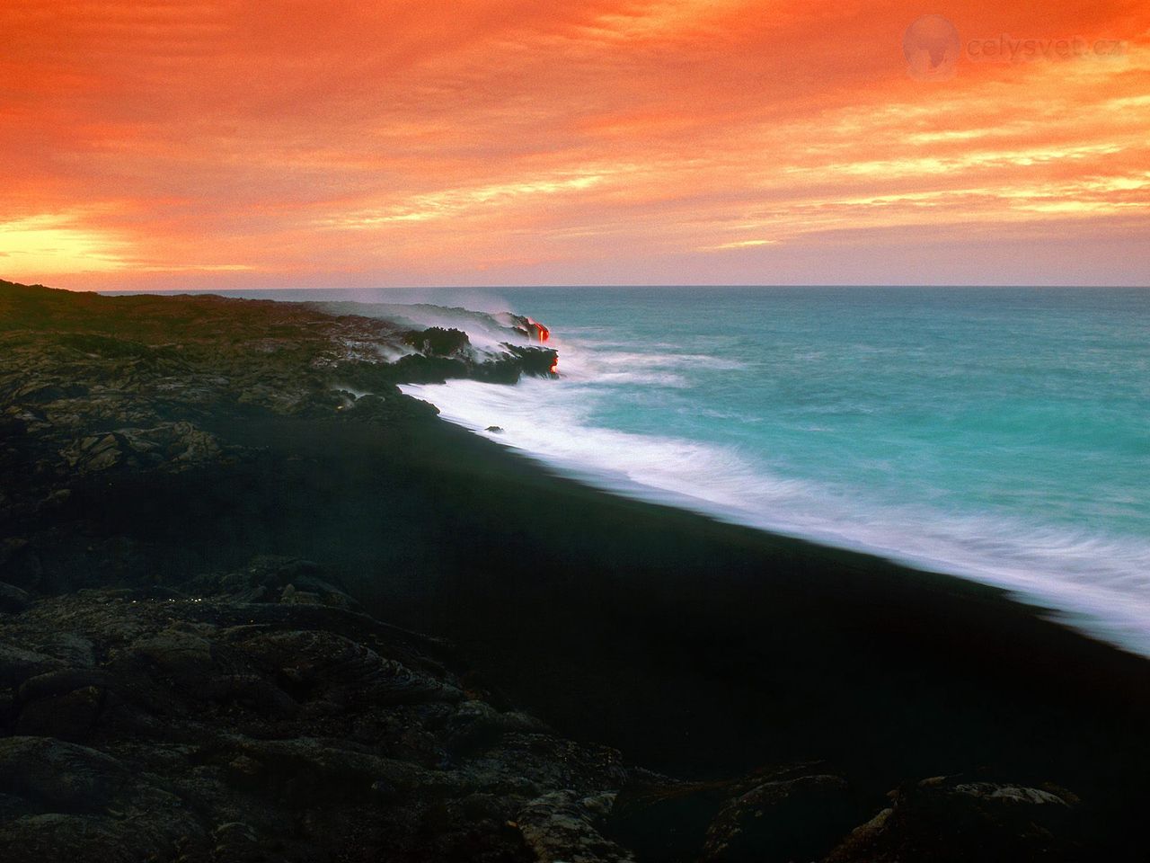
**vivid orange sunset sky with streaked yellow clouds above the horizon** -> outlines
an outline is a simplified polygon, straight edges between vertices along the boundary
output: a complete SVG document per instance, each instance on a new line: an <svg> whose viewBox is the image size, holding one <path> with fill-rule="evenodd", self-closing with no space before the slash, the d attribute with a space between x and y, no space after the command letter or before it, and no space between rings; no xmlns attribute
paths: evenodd
<svg viewBox="0 0 1150 863"><path fill-rule="evenodd" d="M1145 0L0 0L0 32L13 281L1150 284Z"/></svg>

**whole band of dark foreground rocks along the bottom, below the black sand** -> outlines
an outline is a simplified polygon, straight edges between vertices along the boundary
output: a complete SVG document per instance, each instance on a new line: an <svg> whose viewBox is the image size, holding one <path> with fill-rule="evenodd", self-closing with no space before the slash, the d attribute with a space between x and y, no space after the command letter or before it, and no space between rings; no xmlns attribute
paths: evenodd
<svg viewBox="0 0 1150 863"><path fill-rule="evenodd" d="M678 781L353 608L315 564L261 558L2 616L0 857L1082 860L1066 789L940 777L866 820L818 764Z"/></svg>

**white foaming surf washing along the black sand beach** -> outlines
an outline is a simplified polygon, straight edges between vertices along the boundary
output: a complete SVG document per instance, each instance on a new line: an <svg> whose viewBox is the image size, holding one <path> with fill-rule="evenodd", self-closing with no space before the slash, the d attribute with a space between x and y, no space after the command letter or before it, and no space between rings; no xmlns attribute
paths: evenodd
<svg viewBox="0 0 1150 863"><path fill-rule="evenodd" d="M601 420L620 399L652 388L687 389L695 385L689 371L722 372L733 364L652 344L643 352L612 349L595 338L557 346L559 381L401 389L435 404L451 422L605 490L1006 588L1096 637L1150 656L1150 542L919 501L899 504L864 487L780 475L752 445L614 428ZM702 405L698 413L716 422L746 420Z"/></svg>

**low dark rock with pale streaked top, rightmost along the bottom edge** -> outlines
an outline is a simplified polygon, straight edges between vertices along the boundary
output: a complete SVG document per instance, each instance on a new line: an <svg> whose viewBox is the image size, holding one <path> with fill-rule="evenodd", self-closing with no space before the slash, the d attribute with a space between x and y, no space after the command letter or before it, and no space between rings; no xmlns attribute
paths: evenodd
<svg viewBox="0 0 1150 863"><path fill-rule="evenodd" d="M935 777L891 793L891 805L856 828L826 863L1084 860L1078 799L1055 786Z"/></svg>

